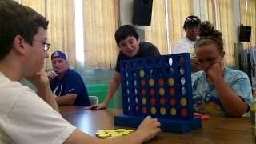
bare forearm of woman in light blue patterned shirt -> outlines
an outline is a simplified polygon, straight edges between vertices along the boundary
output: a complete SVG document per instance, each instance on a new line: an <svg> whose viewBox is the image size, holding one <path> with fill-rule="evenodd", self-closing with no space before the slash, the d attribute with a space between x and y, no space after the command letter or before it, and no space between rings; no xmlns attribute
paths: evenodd
<svg viewBox="0 0 256 144"><path fill-rule="evenodd" d="M242 116L246 112L247 105L242 99L226 85L223 78L215 80L218 96L226 111L233 116Z"/></svg>

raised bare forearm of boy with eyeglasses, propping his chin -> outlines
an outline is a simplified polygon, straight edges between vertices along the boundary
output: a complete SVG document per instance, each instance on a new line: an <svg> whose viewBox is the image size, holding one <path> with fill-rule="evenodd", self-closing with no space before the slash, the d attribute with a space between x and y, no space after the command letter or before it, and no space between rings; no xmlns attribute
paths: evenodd
<svg viewBox="0 0 256 144"><path fill-rule="evenodd" d="M54 95L50 90L50 86L38 88L38 96L48 103L54 110L58 111L58 105L55 101Z"/></svg>

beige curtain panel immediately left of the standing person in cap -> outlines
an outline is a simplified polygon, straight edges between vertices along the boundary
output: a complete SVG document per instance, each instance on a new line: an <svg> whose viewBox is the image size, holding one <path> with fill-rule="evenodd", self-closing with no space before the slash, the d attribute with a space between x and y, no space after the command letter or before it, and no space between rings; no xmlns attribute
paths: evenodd
<svg viewBox="0 0 256 144"><path fill-rule="evenodd" d="M169 0L169 27L170 27L170 44L178 42L180 38L186 36L186 32L183 30L183 24L187 16L193 14L192 0Z"/></svg>

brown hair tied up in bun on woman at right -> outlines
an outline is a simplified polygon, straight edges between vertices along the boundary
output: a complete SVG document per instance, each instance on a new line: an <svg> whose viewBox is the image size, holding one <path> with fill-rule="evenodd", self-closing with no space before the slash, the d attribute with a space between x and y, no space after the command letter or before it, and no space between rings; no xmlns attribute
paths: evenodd
<svg viewBox="0 0 256 144"><path fill-rule="evenodd" d="M209 21L202 22L199 25L199 36L200 38L194 45L195 48L214 44L218 47L219 52L224 50L222 33L214 29L214 26Z"/></svg>

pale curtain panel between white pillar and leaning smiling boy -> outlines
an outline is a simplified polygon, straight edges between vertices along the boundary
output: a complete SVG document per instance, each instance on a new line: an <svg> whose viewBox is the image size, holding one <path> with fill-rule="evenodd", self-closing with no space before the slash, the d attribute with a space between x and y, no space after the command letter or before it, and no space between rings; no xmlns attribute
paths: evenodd
<svg viewBox="0 0 256 144"><path fill-rule="evenodd" d="M118 0L83 1L86 68L114 68L118 46Z"/></svg>

